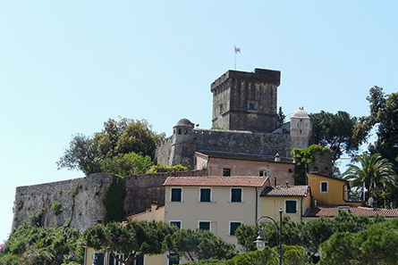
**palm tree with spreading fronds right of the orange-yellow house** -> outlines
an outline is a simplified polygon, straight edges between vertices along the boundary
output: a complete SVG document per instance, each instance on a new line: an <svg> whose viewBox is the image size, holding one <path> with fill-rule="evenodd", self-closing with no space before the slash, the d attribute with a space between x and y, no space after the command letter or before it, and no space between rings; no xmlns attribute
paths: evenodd
<svg viewBox="0 0 398 265"><path fill-rule="evenodd" d="M352 180L352 186L365 185L371 196L377 188L385 190L386 186L396 185L393 163L382 158L380 154L362 153L355 158L360 166L349 164L343 173L343 178Z"/></svg>

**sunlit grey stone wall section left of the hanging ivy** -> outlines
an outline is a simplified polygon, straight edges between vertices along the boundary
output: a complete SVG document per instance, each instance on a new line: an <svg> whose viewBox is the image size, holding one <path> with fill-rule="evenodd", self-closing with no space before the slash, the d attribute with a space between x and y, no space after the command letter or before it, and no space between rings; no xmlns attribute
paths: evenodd
<svg viewBox="0 0 398 265"><path fill-rule="evenodd" d="M48 227L63 226L83 230L105 216L102 196L112 182L109 174L93 174L88 178L18 186L13 207L13 228L18 228L39 211L44 211L41 222ZM61 213L55 215L51 205L61 204Z"/></svg>

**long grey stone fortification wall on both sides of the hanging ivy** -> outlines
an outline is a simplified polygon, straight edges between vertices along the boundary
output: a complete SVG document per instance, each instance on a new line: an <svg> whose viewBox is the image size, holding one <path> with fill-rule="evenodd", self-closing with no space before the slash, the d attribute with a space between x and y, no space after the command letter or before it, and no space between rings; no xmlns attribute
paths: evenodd
<svg viewBox="0 0 398 265"><path fill-rule="evenodd" d="M150 208L153 201L165 205L165 178L170 176L207 176L207 170L131 176L126 178L125 211L139 213ZM102 220L106 209L103 204L111 174L92 174L86 178L33 185L18 186L13 206L13 228L43 211L41 223L48 227L70 223L71 228L84 230ZM51 205L61 204L61 213L55 215Z"/></svg>

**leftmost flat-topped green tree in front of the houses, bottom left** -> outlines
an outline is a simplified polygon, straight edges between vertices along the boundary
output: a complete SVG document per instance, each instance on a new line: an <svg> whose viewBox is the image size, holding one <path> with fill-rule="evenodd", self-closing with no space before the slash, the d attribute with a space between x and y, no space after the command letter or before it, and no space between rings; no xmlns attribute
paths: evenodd
<svg viewBox="0 0 398 265"><path fill-rule="evenodd" d="M175 229L157 221L131 221L125 225L113 222L105 227L89 228L82 236L89 247L100 250L107 246L116 261L130 265L145 254L164 253L162 244L165 237L173 234ZM124 253L124 259L115 253Z"/></svg>

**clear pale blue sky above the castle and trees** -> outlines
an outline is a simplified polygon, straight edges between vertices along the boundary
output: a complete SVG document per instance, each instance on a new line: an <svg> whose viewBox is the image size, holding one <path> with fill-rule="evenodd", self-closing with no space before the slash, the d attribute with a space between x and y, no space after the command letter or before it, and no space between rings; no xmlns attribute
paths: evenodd
<svg viewBox="0 0 398 265"><path fill-rule="evenodd" d="M0 242L16 186L82 177L55 161L108 118L211 127L210 83L282 71L286 114L368 114L398 83L396 1L0 1Z"/></svg>

